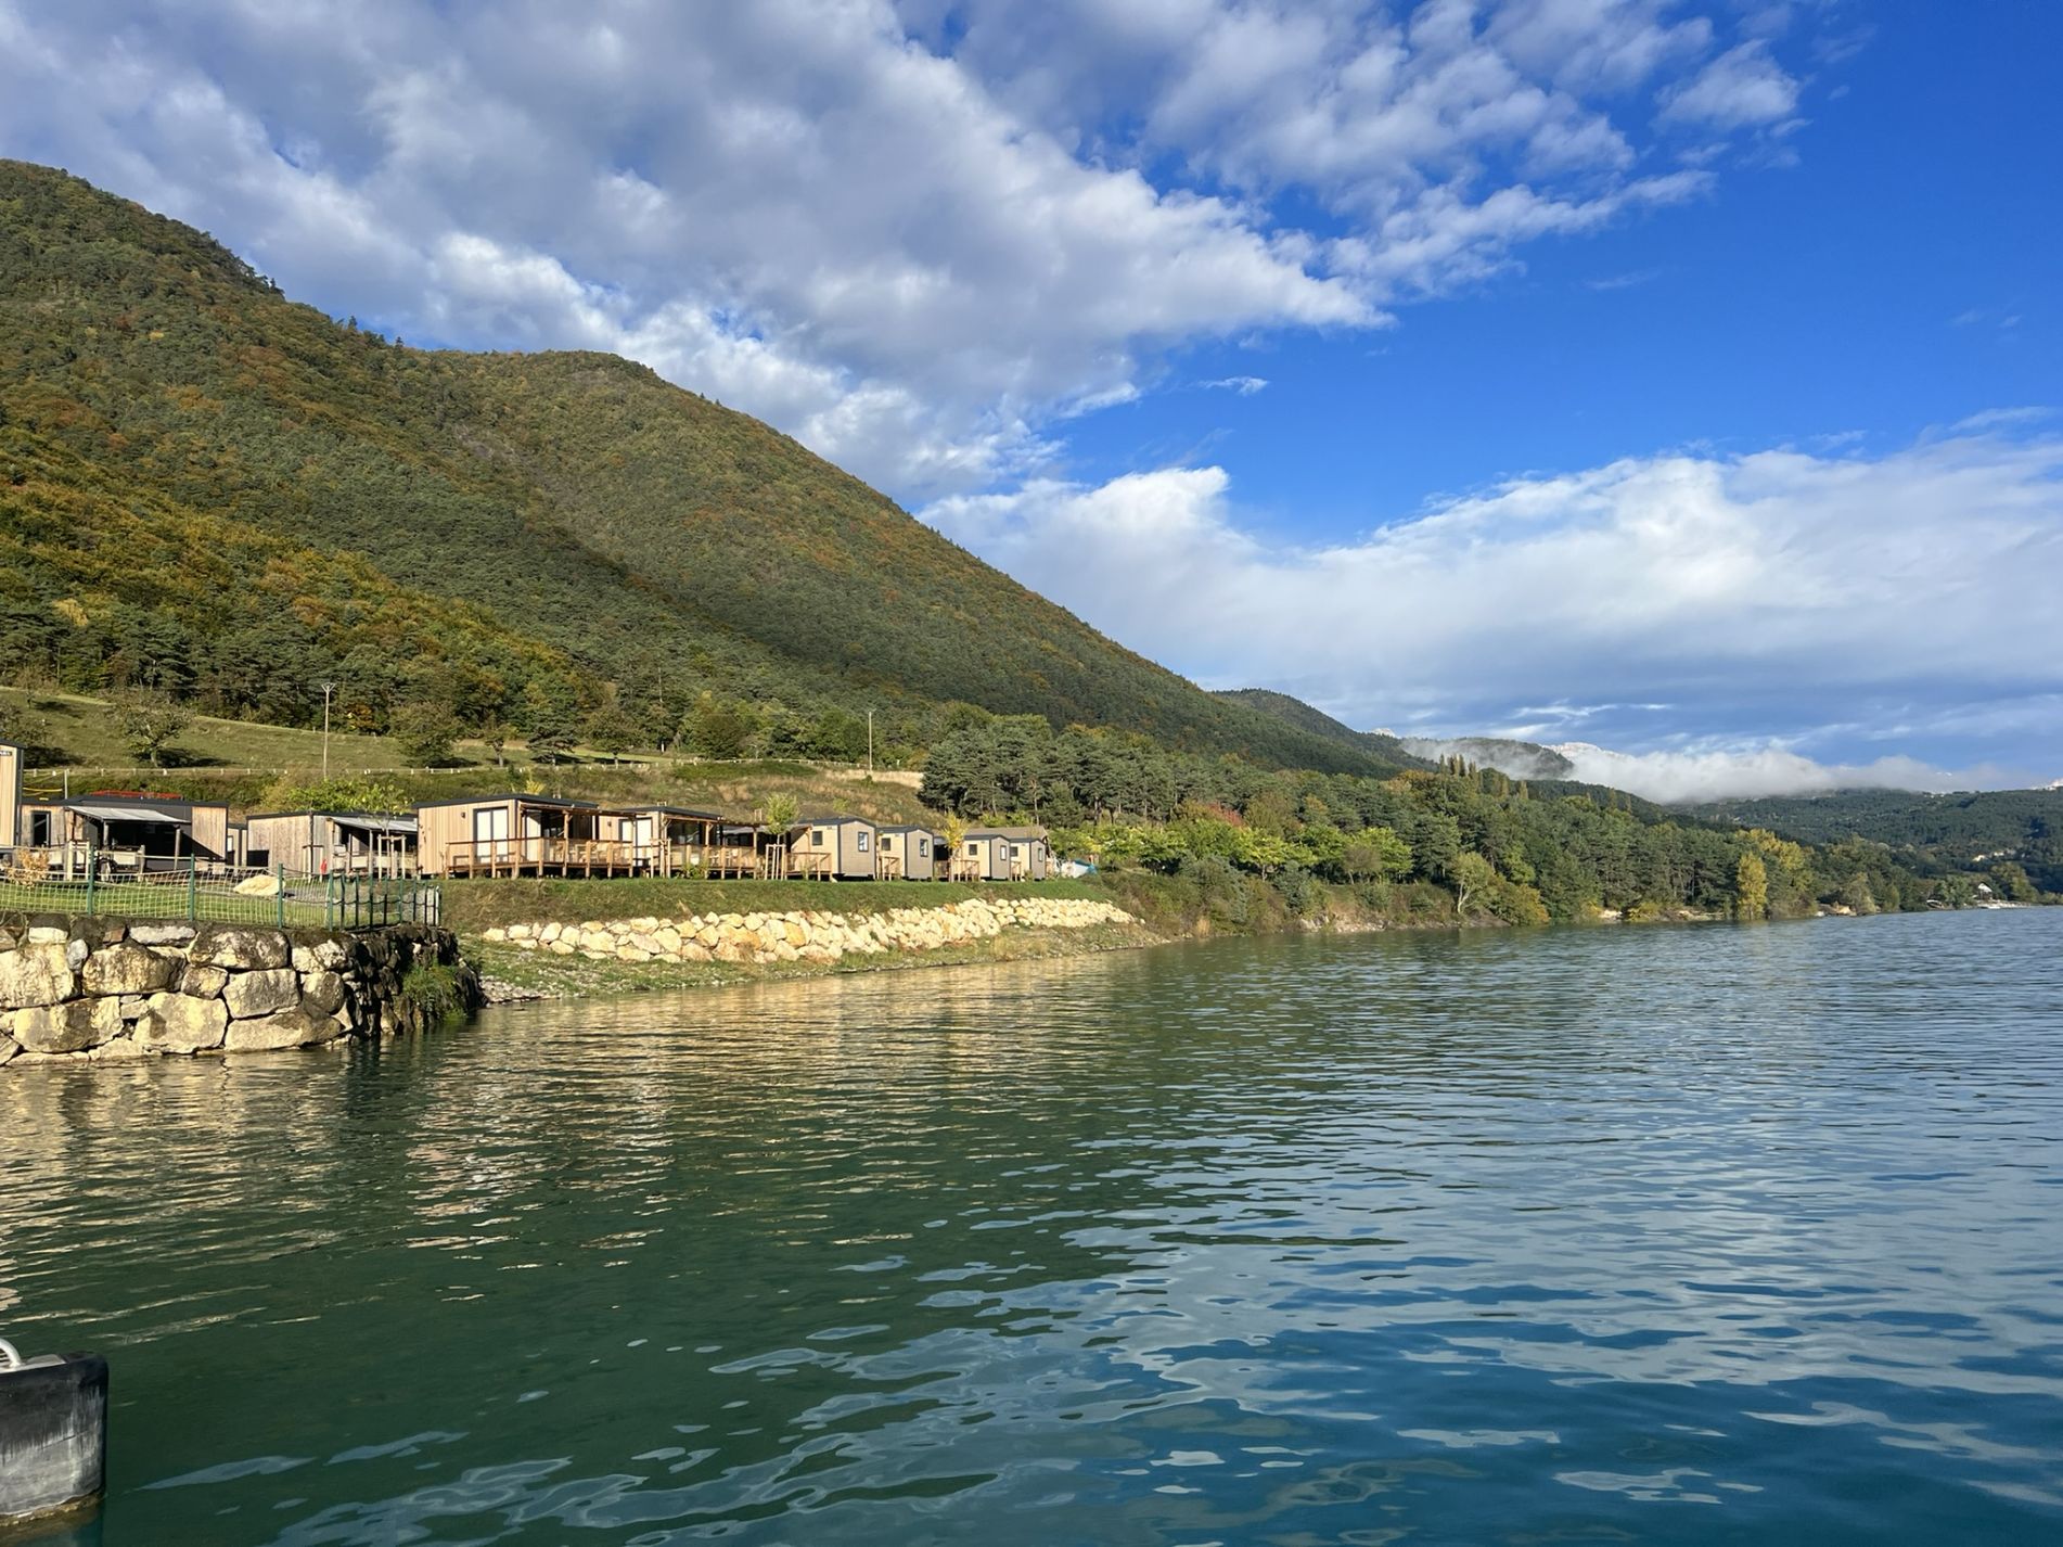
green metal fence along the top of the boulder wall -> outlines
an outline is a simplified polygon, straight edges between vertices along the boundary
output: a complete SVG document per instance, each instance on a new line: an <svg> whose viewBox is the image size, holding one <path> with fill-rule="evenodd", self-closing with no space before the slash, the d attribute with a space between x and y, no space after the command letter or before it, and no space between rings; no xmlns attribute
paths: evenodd
<svg viewBox="0 0 2063 1547"><path fill-rule="evenodd" d="M111 914L332 930L437 924L444 918L444 895L431 881L309 877L285 864L233 870L192 858L165 868L111 873L91 850L76 870L64 877L33 862L29 850L0 850L0 914Z"/></svg>

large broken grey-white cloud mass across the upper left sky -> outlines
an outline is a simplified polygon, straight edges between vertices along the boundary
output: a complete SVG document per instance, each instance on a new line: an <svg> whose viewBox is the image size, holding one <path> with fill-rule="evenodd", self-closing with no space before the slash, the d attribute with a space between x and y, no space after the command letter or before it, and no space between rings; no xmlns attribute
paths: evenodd
<svg viewBox="0 0 2063 1547"><path fill-rule="evenodd" d="M1681 12L0 0L0 151L338 314L633 355L926 495L1050 464L1180 344L1376 326L1698 196L1642 169L1655 93L1756 128L1789 76Z"/></svg>

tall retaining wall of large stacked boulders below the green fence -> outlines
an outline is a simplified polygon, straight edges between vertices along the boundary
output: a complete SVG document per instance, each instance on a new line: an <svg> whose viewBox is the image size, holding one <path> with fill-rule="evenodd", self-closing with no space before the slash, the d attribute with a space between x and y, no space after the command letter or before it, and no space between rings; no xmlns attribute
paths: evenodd
<svg viewBox="0 0 2063 1547"><path fill-rule="evenodd" d="M340 934L120 918L0 920L0 1066L307 1048L417 1029L402 980L470 967L446 930Z"/></svg>

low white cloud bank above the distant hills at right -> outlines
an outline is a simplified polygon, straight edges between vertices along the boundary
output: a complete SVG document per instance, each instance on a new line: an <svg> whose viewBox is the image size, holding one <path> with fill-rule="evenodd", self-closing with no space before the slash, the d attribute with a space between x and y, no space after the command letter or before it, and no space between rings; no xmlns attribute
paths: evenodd
<svg viewBox="0 0 2063 1547"><path fill-rule="evenodd" d="M1265 540L1215 466L1032 481L926 516L1207 685L1277 687L1353 724L1580 724L1648 749L1667 716L1912 745L2053 738L2063 705L2053 435L1630 458L1333 547Z"/></svg>

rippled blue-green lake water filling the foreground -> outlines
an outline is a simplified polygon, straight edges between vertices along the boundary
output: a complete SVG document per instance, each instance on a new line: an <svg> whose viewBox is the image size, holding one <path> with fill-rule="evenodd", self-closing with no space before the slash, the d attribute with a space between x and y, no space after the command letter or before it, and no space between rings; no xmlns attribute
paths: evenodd
<svg viewBox="0 0 2063 1547"><path fill-rule="evenodd" d="M0 1073L52 1543L2057 1543L2063 910Z"/></svg>

